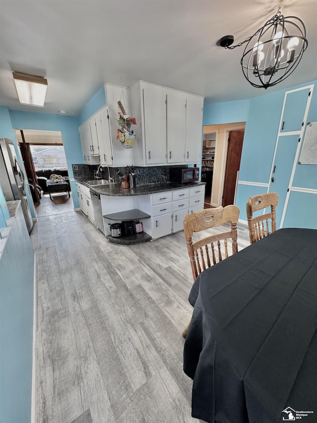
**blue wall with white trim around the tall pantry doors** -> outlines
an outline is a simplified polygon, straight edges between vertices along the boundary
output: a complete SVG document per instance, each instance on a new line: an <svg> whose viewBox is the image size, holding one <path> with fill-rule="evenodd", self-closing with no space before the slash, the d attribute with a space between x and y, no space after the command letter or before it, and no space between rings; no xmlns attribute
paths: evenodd
<svg viewBox="0 0 317 423"><path fill-rule="evenodd" d="M239 181L264 185L269 182L285 92L313 84L315 87L307 121L317 121L316 80L250 100L205 105L204 125L246 121ZM297 104L293 102L290 107L296 111ZM317 166L297 165L292 186L317 189ZM273 190L273 187L271 186L270 189ZM266 190L266 186L238 184L236 205L240 208L242 220L247 220L248 197L262 194ZM310 204L313 212L304 212L304 207L299 206L297 201L301 201L301 204ZM283 206L284 204L278 205L281 208ZM283 227L302 224L306 228L317 228L316 216L317 194L291 191Z"/></svg>

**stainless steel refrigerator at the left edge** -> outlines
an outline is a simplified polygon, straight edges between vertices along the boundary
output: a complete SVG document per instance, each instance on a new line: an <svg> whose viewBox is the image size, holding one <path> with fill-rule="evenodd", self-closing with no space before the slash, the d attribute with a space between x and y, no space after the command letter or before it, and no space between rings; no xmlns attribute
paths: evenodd
<svg viewBox="0 0 317 423"><path fill-rule="evenodd" d="M26 226L30 233L33 221L25 194L24 174L16 158L13 142L8 138L0 138L0 184L6 201L21 200Z"/></svg>

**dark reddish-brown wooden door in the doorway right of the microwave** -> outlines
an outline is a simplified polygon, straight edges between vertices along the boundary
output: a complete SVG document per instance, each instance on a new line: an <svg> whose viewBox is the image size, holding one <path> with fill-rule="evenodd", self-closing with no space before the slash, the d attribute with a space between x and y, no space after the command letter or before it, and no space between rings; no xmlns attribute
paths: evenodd
<svg viewBox="0 0 317 423"><path fill-rule="evenodd" d="M233 204L234 201L237 172L240 169L243 136L244 129L229 132L226 173L222 195L223 207Z"/></svg>

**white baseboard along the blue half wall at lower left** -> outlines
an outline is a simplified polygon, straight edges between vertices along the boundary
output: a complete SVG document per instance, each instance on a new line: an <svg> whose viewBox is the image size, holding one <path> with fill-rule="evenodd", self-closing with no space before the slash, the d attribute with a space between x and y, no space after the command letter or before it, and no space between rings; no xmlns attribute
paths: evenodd
<svg viewBox="0 0 317 423"><path fill-rule="evenodd" d="M36 255L34 254L34 281L33 281L33 354L32 354L32 399L31 423L37 423L37 282L36 282Z"/></svg>

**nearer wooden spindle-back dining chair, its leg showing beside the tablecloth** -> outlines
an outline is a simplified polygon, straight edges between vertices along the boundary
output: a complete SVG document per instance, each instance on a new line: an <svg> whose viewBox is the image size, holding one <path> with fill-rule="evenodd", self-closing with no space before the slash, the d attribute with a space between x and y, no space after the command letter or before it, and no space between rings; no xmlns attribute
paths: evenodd
<svg viewBox="0 0 317 423"><path fill-rule="evenodd" d="M217 259L219 262L223 258L228 257L227 240L232 240L232 254L238 251L237 222L239 214L239 208L230 205L226 207L220 206L217 208L204 209L185 216L184 234L194 281L203 270L216 264ZM195 232L205 231L216 226L224 225L227 222L231 223L230 230L226 232L214 231L212 235L205 236L195 242L192 241ZM223 241L222 251L220 241ZM190 322L182 333L183 338L187 336L189 325Z"/></svg>

